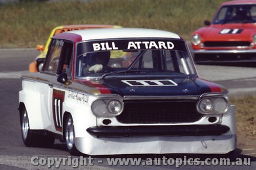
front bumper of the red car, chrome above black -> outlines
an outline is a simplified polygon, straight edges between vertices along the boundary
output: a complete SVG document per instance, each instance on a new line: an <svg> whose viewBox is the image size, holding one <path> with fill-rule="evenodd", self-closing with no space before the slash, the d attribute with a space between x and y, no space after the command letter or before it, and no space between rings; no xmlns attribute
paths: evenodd
<svg viewBox="0 0 256 170"><path fill-rule="evenodd" d="M191 50L195 62L251 62L256 61L256 50Z"/></svg>

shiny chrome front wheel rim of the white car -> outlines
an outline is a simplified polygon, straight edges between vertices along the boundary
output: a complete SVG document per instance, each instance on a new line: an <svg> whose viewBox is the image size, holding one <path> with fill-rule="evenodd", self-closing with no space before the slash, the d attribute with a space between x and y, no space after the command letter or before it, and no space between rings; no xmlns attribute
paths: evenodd
<svg viewBox="0 0 256 170"><path fill-rule="evenodd" d="M71 117L68 119L67 127L66 127L66 143L69 150L71 150L74 146L75 132L74 132L74 124Z"/></svg>

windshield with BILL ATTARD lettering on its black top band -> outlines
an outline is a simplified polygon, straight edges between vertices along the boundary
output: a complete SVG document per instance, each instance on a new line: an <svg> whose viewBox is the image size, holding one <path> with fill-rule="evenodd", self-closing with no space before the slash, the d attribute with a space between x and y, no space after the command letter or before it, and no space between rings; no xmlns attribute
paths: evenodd
<svg viewBox="0 0 256 170"><path fill-rule="evenodd" d="M76 77L105 77L112 74L195 75L185 42L176 41L80 43L77 46Z"/></svg>

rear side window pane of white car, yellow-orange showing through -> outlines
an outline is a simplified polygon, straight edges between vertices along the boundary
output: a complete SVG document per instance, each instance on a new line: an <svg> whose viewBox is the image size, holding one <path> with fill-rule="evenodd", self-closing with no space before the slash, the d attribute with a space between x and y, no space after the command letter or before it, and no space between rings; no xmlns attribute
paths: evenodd
<svg viewBox="0 0 256 170"><path fill-rule="evenodd" d="M49 47L44 71L57 73L63 40L54 39Z"/></svg>

